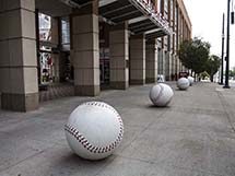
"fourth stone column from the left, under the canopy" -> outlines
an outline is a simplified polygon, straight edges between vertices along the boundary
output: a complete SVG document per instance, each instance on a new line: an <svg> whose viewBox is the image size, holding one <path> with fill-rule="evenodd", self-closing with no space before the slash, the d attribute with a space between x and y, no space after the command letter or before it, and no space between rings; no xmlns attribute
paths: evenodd
<svg viewBox="0 0 235 176"><path fill-rule="evenodd" d="M145 83L145 38L144 35L130 37L130 84Z"/></svg>

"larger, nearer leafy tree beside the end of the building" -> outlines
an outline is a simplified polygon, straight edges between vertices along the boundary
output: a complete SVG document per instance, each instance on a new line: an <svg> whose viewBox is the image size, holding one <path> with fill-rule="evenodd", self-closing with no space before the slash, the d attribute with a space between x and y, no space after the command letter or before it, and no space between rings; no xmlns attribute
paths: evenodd
<svg viewBox="0 0 235 176"><path fill-rule="evenodd" d="M180 44L178 56L186 68L191 69L196 73L201 73L204 71L210 55L210 47L209 43L195 37Z"/></svg>

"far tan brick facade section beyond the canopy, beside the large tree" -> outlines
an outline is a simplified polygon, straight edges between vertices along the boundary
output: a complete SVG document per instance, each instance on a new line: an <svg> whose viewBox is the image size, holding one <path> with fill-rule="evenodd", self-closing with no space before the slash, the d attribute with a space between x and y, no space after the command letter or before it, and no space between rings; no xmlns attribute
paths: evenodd
<svg viewBox="0 0 235 176"><path fill-rule="evenodd" d="M178 72L186 71L177 50L185 39L191 38L191 22L183 0L158 0L161 14L169 23L172 34L157 38L158 74L166 80L177 80Z"/></svg>

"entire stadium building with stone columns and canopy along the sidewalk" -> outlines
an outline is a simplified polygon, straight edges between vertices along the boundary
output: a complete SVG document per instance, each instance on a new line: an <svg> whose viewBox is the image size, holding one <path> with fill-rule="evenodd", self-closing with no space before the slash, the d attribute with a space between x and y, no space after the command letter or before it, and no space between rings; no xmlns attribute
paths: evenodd
<svg viewBox="0 0 235 176"><path fill-rule="evenodd" d="M27 112L51 86L75 96L177 79L191 37L183 0L1 0L1 108Z"/></svg>

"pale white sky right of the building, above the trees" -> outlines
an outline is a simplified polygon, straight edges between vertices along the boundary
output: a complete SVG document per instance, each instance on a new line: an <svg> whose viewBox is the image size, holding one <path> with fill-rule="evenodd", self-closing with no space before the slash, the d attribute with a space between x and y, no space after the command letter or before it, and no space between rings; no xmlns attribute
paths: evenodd
<svg viewBox="0 0 235 176"><path fill-rule="evenodd" d="M233 1L233 0L232 0ZM222 52L222 17L225 13L226 36L226 0L184 0L192 24L192 37L202 37L211 44L211 55L221 57ZM235 0L234 0L235 4ZM231 9L235 5L231 2ZM235 67L235 25L231 25L230 68ZM226 45L226 38L225 38ZM226 46L224 48L226 51ZM226 54L225 54L226 55Z"/></svg>

